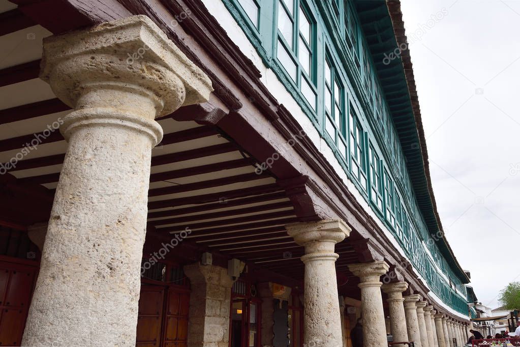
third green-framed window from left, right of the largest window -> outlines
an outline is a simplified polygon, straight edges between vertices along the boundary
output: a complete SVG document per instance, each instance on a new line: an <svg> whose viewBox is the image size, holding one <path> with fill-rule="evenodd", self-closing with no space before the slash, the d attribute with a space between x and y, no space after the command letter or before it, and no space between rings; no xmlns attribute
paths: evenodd
<svg viewBox="0 0 520 347"><path fill-rule="evenodd" d="M326 55L324 69L324 127L341 156L346 160L348 151L345 140L345 88L330 54Z"/></svg>

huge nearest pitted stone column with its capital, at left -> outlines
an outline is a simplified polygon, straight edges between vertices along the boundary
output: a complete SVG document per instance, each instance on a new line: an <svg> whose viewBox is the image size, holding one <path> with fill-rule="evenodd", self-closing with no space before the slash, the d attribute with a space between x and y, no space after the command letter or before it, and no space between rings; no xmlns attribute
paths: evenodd
<svg viewBox="0 0 520 347"><path fill-rule="evenodd" d="M134 346L154 118L211 81L145 16L47 37L41 66L74 110L22 344Z"/></svg>

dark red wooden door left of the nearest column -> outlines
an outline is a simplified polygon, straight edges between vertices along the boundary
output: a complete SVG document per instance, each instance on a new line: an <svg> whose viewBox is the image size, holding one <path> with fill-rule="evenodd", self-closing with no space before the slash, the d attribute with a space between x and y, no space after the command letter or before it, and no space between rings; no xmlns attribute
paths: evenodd
<svg viewBox="0 0 520 347"><path fill-rule="evenodd" d="M0 346L21 343L37 271L37 266L0 261Z"/></svg>

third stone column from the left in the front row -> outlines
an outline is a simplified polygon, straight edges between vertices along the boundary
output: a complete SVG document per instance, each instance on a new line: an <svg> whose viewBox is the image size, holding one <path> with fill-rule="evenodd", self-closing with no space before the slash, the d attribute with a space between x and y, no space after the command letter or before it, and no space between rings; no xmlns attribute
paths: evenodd
<svg viewBox="0 0 520 347"><path fill-rule="evenodd" d="M363 344L370 347L387 347L385 313L379 279L388 272L383 261L348 265L350 272L359 277L361 289L361 315L363 317Z"/></svg>

